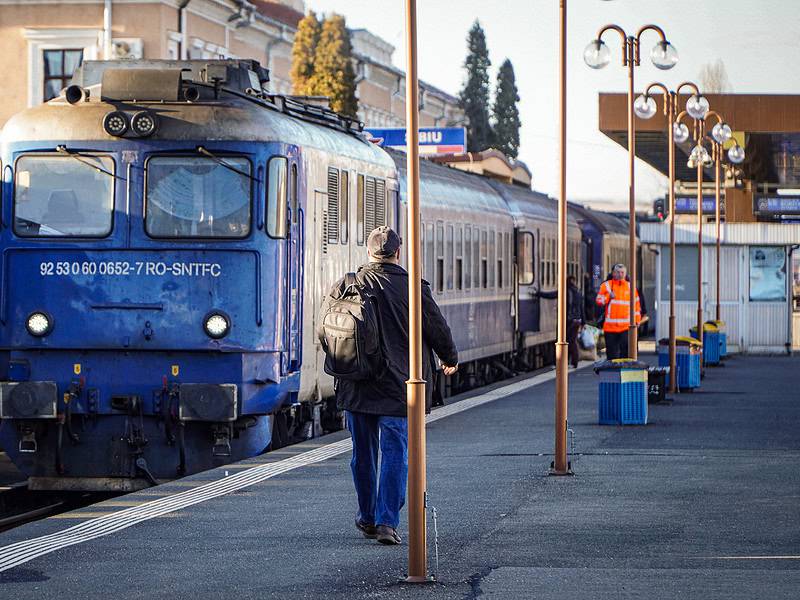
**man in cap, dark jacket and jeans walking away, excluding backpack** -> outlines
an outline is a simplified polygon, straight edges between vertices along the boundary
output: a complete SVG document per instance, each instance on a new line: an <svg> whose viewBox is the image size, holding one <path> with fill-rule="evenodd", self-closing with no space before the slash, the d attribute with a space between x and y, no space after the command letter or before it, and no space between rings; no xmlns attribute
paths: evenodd
<svg viewBox="0 0 800 600"><path fill-rule="evenodd" d="M356 527L364 537L382 544L399 544L397 527L405 504L408 476L406 385L408 379L408 273L400 266L400 237L378 227L367 239L369 262L355 274L362 297L374 301L380 328L382 367L369 378L336 378L336 401L345 410L353 439L350 468L358 496ZM334 285L322 307L340 297L345 277ZM445 375L458 370L458 352L450 328L427 282L422 285L423 375L426 407L430 410L434 359ZM321 321L320 321L321 322ZM433 351L433 352L432 352ZM378 473L378 451L381 452Z"/></svg>

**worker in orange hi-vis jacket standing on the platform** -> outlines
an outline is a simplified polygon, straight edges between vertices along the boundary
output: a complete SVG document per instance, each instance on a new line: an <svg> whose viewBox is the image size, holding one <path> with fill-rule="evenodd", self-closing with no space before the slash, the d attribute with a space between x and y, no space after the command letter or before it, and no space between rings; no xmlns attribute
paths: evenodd
<svg viewBox="0 0 800 600"><path fill-rule="evenodd" d="M606 338L606 358L627 358L628 329L631 313L631 284L626 281L627 268L623 264L614 265L611 279L604 281L597 294L597 304L603 307L603 334ZM639 293L636 293L636 325L642 320Z"/></svg>

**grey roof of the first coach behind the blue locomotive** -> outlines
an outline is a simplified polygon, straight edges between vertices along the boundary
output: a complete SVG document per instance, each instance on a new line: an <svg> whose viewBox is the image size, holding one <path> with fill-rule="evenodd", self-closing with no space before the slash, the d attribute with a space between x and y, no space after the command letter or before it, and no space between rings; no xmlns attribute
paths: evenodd
<svg viewBox="0 0 800 600"><path fill-rule="evenodd" d="M400 194L406 201L406 154L388 150L400 173ZM491 211L507 214L508 207L503 199L492 189L488 181L472 173L438 165L421 159L420 200L423 206L442 206L455 210Z"/></svg>

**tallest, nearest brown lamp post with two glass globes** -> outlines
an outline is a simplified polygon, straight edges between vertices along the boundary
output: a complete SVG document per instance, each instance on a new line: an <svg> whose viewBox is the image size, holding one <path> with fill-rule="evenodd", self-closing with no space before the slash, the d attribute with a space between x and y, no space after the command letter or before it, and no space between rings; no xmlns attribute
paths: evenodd
<svg viewBox="0 0 800 600"><path fill-rule="evenodd" d="M619 25L606 25L597 33L597 38L589 42L583 52L583 59L593 69L602 69L610 59L611 53L603 42L603 34L614 30L622 38L622 66L628 67L628 168L629 187L628 203L630 210L630 223L628 228L629 273L631 279L630 293L630 322L628 325L628 354L634 360L638 358L638 332L636 325L636 187L635 187L635 160L636 160L636 131L633 120L633 82L634 67L641 64L640 42L645 31L655 31L660 41L650 52L650 60L662 70L671 69L678 62L678 52L667 40L664 31L657 25L644 25L636 35L628 35Z"/></svg>

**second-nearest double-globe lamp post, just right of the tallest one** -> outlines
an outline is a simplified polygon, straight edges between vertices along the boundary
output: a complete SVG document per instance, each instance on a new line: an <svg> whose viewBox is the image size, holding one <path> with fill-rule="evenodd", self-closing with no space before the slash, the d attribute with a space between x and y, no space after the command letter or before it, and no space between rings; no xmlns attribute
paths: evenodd
<svg viewBox="0 0 800 600"><path fill-rule="evenodd" d="M692 88L694 95L687 101L687 108L691 107L694 111L704 106L708 102L702 102L702 97L697 84L690 81L681 83L675 91L670 90L663 83L651 83L645 89L644 94L639 96L633 103L633 110L640 119L650 119L656 112L656 102L651 96L654 89L661 90L663 94L664 116L667 118L667 154L669 160L669 388L671 393L678 391L677 377L677 348L675 343L675 301L676 301L676 271L675 271L675 142L683 143L689 139L689 129L683 123L675 122L675 114L678 112L678 99L684 87Z"/></svg>

